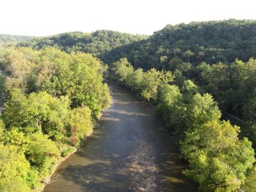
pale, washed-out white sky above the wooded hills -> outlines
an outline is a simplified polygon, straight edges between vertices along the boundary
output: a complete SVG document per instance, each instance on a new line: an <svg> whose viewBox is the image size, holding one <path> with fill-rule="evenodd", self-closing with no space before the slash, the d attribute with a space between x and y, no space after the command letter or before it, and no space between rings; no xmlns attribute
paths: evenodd
<svg viewBox="0 0 256 192"><path fill-rule="evenodd" d="M256 19L255 0L0 0L0 34L110 29L151 35L166 24Z"/></svg>

